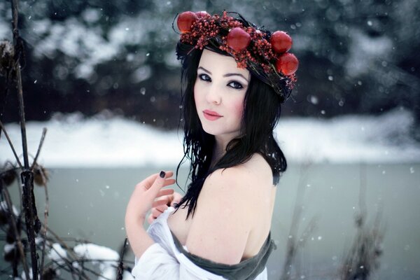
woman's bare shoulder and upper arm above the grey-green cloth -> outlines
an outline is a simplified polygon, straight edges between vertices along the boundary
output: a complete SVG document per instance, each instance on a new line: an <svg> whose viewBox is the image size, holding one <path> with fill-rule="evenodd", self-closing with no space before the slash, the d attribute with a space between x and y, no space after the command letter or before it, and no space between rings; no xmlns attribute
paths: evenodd
<svg viewBox="0 0 420 280"><path fill-rule="evenodd" d="M262 189L272 183L271 169L266 169L267 162L255 155L207 177L186 240L190 253L228 265L240 262L260 215L259 198L267 193Z"/></svg>

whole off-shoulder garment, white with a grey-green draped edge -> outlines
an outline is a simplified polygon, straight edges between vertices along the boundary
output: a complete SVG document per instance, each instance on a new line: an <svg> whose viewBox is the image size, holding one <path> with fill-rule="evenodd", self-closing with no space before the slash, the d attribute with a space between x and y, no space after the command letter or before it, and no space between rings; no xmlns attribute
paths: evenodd
<svg viewBox="0 0 420 280"><path fill-rule="evenodd" d="M167 218L174 211L169 207L153 221L147 232L155 244L136 259L132 275L136 280L267 280L267 259L275 248L268 235L260 252L236 265L213 262L188 252L169 229Z"/></svg>

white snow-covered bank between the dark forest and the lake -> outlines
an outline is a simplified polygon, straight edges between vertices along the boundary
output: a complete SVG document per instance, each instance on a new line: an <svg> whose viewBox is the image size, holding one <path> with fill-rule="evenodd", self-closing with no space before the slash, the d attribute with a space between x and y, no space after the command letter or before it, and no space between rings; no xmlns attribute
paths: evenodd
<svg viewBox="0 0 420 280"><path fill-rule="evenodd" d="M420 144L410 137L411 113L397 109L381 116L342 116L330 120L283 118L276 137L289 162L420 162ZM48 167L174 166L182 157L182 133L157 130L118 116L57 115L48 122L28 122L31 155L42 129L48 129L39 162ZM21 155L20 127L6 130ZM6 137L0 162L13 160Z"/></svg>

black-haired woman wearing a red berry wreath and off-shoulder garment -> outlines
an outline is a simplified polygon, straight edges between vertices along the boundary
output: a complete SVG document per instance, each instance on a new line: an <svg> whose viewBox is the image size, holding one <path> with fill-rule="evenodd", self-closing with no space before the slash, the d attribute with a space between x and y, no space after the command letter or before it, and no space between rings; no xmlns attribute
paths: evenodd
<svg viewBox="0 0 420 280"><path fill-rule="evenodd" d="M132 274L267 279L274 186L286 170L273 130L297 69L291 38L227 13L185 12L177 23L191 183L181 197L162 189L173 172L160 172L134 189L125 217Z"/></svg>

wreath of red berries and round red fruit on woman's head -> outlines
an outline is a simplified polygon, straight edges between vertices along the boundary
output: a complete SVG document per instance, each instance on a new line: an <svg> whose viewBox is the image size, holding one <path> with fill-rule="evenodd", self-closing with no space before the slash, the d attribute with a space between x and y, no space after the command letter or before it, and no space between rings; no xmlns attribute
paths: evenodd
<svg viewBox="0 0 420 280"><path fill-rule="evenodd" d="M275 31L268 36L265 31L244 24L223 12L222 16L207 12L183 12L178 16L177 25L181 31L181 43L203 49L218 41L218 48L228 52L237 61L238 67L261 68L266 76L288 78L288 87L293 87L297 58L288 52L292 38L284 31ZM267 40L268 38L268 40Z"/></svg>

